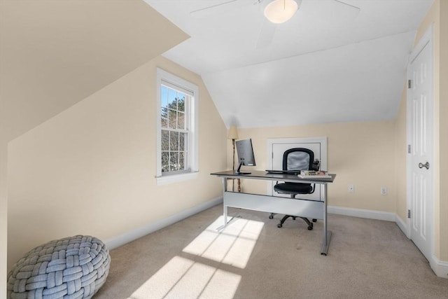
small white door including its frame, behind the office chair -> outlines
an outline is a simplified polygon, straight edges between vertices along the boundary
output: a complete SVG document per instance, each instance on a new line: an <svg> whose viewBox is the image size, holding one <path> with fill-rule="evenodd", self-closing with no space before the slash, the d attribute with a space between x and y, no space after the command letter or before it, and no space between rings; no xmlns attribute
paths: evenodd
<svg viewBox="0 0 448 299"><path fill-rule="evenodd" d="M283 153L290 148L309 148L314 153L314 159L321 161L321 170L327 170L327 139L326 137L311 138L283 138L268 139L268 157L270 160L267 165L269 169L281 170L283 168ZM290 197L288 194L276 193L274 183L269 182L269 195ZM316 185L314 193L307 195L297 195L305 200L323 200L323 186Z"/></svg>

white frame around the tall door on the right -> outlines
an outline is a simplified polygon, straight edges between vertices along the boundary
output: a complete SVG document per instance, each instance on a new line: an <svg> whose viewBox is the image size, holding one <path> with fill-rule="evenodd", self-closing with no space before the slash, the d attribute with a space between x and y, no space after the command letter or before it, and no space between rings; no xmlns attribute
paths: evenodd
<svg viewBox="0 0 448 299"><path fill-rule="evenodd" d="M412 79L412 74L410 74L410 65L411 63L415 60L415 58L419 55L419 53L421 53L421 50L423 50L423 48L425 48L425 46L429 47L429 53L430 53L430 70L428 71L428 74L430 76L430 82L431 82L431 87L430 87L430 101L433 102L432 105L432 111L430 113L430 116L432 116L430 118L430 121L434 124L434 52L433 52L433 25L430 25L430 27L426 30L425 34L423 34L423 36L421 36L421 39L419 40L419 43L416 44L416 46L414 47L414 49L412 50L411 55L409 56L409 63L407 64L407 79L410 80ZM410 97L410 92L407 92L407 97L406 97L406 144L407 146L411 146L413 147L414 145L412 144L412 98ZM433 160L434 160L434 150L435 150L435 146L434 146L434 126L433 126L433 132L431 132L433 134L432 136L432 143L431 144L431 148L432 148L432 155L433 155ZM434 165L435 163L432 161L431 163L432 165ZM407 201L407 210L411 210L412 213L412 154L409 153L409 150L407 150L407 155L406 155L406 201ZM430 167L430 172L432 172L432 177L433 177L433 181L432 181L432 188L433 188L433 193L432 195L429 197L428 200L430 200L430 206L431 209L429 209L429 213L430 213L430 221L433 221L433 223L431 223L431 225L428 225L428 235L430 236L430 256L434 255L434 241L435 241L435 236L434 236L434 182L435 182L435 176L434 176L434 167ZM412 217L412 215L411 215ZM407 232L406 235L409 239L412 239L412 235L411 235L411 225L412 225L412 221L411 218L409 218L409 216L407 217ZM427 257L428 258L428 257ZM430 259L428 258L428 260L430 261Z"/></svg>

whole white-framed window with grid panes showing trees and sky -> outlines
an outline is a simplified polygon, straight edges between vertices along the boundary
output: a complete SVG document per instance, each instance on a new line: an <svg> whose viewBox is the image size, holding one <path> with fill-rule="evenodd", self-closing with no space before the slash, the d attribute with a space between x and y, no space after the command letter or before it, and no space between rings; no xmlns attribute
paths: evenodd
<svg viewBox="0 0 448 299"><path fill-rule="evenodd" d="M196 85L157 69L157 179L171 183L197 176Z"/></svg>

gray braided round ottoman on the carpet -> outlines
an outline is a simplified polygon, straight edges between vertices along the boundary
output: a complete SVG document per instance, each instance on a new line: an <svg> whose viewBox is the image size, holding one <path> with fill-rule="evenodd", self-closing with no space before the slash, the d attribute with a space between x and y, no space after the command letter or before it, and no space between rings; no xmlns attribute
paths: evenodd
<svg viewBox="0 0 448 299"><path fill-rule="evenodd" d="M92 298L109 274L111 256L95 237L58 239L29 251L8 274L8 298Z"/></svg>

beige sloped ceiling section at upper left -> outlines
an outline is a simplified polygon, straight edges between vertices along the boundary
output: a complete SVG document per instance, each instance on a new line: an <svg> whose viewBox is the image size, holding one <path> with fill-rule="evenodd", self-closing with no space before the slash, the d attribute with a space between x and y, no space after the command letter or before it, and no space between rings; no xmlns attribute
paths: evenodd
<svg viewBox="0 0 448 299"><path fill-rule="evenodd" d="M17 137L186 39L141 0L1 0L2 138Z"/></svg>

